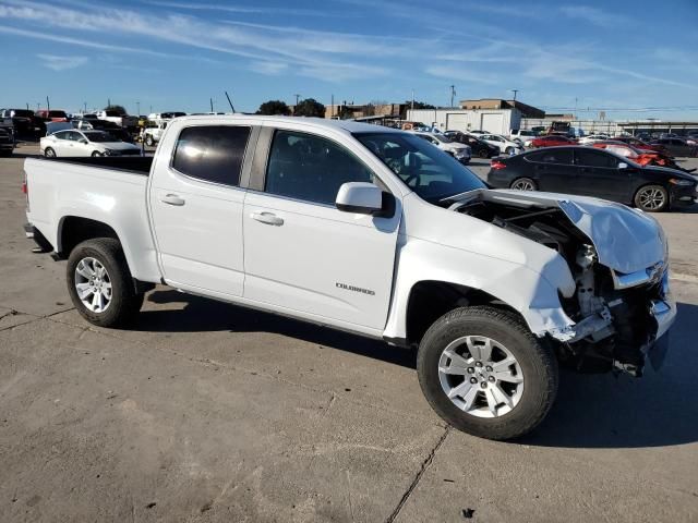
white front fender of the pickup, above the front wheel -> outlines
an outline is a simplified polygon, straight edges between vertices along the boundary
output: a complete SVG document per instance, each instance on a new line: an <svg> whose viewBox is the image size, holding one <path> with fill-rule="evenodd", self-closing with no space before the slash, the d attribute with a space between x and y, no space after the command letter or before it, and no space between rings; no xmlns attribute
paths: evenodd
<svg viewBox="0 0 698 523"><path fill-rule="evenodd" d="M520 313L539 337L563 332L575 324L559 302L559 294L574 294L575 282L556 252L416 195L405 198L404 205L386 338L407 338L410 293L420 281L484 291Z"/></svg>

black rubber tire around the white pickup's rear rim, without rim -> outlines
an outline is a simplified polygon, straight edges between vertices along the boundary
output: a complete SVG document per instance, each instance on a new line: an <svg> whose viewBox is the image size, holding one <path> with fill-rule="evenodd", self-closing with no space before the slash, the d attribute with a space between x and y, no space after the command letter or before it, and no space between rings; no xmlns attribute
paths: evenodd
<svg viewBox="0 0 698 523"><path fill-rule="evenodd" d="M107 270L111 282L111 301L101 313L85 306L75 289L75 269L84 258L98 260ZM141 311L143 294L136 293L129 265L118 240L97 238L73 248L68 258L68 292L75 308L91 324L99 327L118 327L128 324Z"/></svg>

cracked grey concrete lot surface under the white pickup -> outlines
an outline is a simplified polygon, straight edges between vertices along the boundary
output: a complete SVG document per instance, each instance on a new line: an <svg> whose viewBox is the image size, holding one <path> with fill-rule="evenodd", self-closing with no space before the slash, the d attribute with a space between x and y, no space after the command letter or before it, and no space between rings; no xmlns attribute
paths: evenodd
<svg viewBox="0 0 698 523"><path fill-rule="evenodd" d="M563 373L500 443L447 428L382 343L167 288L130 330L89 326L24 239L36 150L0 159L1 522L698 521L698 214L658 217L681 303L661 372Z"/></svg>

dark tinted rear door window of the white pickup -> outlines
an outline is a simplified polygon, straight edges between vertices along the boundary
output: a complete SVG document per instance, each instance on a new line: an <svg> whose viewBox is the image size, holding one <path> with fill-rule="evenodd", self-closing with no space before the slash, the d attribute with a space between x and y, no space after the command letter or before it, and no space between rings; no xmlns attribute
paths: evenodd
<svg viewBox="0 0 698 523"><path fill-rule="evenodd" d="M250 127L185 127L177 139L172 168L207 182L238 185Z"/></svg>

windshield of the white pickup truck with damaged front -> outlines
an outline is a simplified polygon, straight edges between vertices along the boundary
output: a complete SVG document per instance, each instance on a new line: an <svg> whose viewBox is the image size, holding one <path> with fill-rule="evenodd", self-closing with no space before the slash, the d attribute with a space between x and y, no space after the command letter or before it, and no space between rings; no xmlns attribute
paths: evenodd
<svg viewBox="0 0 698 523"><path fill-rule="evenodd" d="M423 199L438 200L486 185L453 157L408 133L356 133L354 136Z"/></svg>

